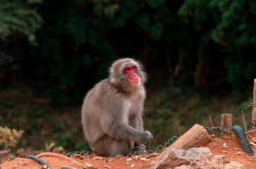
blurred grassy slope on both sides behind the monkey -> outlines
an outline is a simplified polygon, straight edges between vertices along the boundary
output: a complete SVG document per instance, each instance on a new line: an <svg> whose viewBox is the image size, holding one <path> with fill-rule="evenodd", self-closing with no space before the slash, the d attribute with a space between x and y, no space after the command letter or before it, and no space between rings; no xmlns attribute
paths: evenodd
<svg viewBox="0 0 256 169"><path fill-rule="evenodd" d="M172 136L178 136L177 124L181 133L185 133L195 123L210 126L209 116L212 116L213 125L220 126L222 113L232 113L233 124L243 127L240 111L244 111L248 123L252 112L248 108L252 102L251 91L252 88L238 96L234 93L225 96L205 94L174 87L150 92L144 117L145 130L154 135L150 146L164 144ZM28 152L89 150L80 123L80 105L53 106L49 97L42 93L35 94L28 88L0 90L0 101L4 103L0 104L3 112L0 124L24 130L17 152L28 155Z"/></svg>

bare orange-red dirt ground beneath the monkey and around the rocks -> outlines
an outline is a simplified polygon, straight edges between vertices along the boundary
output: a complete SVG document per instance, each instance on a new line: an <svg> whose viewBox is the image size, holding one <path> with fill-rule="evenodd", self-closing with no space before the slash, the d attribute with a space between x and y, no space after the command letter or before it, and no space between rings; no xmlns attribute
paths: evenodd
<svg viewBox="0 0 256 169"><path fill-rule="evenodd" d="M247 135L249 142L255 142L256 134L250 133ZM243 163L248 169L256 169L256 146L252 146L254 156L250 157L240 146L238 139L234 135L227 137L217 138L212 136L212 141L207 145L212 154L225 155L231 161ZM94 168L108 169L108 168L150 168L153 165L154 158L159 153L154 154L141 154L140 156L117 156L116 158L106 158L104 156L97 156L96 154L81 156L76 154L69 159L56 158L51 156L43 156L41 159L51 165L53 169L59 169L62 166L71 166L73 168L84 168L85 163L94 165ZM27 158L14 158L7 159L1 164L1 169L8 168L23 168L23 169L41 169L45 166L32 161Z"/></svg>

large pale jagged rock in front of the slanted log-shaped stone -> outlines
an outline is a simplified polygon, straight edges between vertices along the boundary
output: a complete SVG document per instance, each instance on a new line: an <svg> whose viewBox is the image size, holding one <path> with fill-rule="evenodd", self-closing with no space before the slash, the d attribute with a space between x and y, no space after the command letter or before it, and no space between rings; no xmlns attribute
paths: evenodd
<svg viewBox="0 0 256 169"><path fill-rule="evenodd" d="M164 152L163 152L164 153ZM157 158L156 158L157 159ZM173 149L171 148L162 158L154 161L150 169L245 169L245 165L230 161L224 155L214 155L208 148Z"/></svg>

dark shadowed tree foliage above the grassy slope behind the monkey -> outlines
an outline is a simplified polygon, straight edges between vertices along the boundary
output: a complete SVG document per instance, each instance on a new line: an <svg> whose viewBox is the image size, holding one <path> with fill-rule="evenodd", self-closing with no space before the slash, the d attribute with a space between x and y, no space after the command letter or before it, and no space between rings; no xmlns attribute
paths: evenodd
<svg viewBox="0 0 256 169"><path fill-rule="evenodd" d="M16 0L0 5L0 44L7 44L0 49L13 58L0 69L13 73L19 63L20 77L41 84L35 88L47 89L54 104L82 101L120 57L142 60L154 85L243 91L256 75L252 0ZM37 39L37 46L26 46L16 32L28 42ZM0 76L0 87L9 81Z"/></svg>

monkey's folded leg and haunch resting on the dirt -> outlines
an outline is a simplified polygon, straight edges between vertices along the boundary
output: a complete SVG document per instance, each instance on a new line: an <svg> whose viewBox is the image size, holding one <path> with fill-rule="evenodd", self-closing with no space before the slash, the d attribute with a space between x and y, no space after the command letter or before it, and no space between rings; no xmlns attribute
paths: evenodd
<svg viewBox="0 0 256 169"><path fill-rule="evenodd" d="M111 156L112 154L127 155L133 149L133 144L132 141L126 139L113 139L105 135L92 144L91 149L102 156Z"/></svg>

